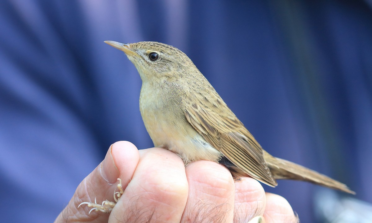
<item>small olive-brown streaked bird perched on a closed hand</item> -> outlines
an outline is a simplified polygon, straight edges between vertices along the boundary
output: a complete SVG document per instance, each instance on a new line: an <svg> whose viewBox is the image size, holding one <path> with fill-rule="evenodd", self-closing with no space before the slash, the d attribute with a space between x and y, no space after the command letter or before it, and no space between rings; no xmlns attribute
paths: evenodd
<svg viewBox="0 0 372 223"><path fill-rule="evenodd" d="M140 111L155 147L225 165L234 177L250 176L275 187L291 179L355 194L345 184L266 152L191 59L160 42L105 43L124 51L142 80Z"/></svg>

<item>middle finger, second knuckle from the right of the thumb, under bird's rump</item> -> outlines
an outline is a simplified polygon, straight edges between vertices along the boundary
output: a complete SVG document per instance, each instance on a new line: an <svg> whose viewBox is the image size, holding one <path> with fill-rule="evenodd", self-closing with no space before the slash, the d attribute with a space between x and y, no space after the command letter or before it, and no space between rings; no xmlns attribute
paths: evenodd
<svg viewBox="0 0 372 223"><path fill-rule="evenodd" d="M211 161L196 161L186 167L189 197L182 221L232 222L234 180L227 168Z"/></svg>

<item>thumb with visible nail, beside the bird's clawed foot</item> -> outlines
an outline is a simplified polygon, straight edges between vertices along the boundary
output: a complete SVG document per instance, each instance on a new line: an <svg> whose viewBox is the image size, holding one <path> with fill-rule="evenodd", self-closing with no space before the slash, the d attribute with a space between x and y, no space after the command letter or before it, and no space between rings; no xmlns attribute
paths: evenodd
<svg viewBox="0 0 372 223"><path fill-rule="evenodd" d="M67 207L60 213L55 222L107 222L109 214L92 211L86 205L78 208L82 202L97 203L104 200L113 201L117 189L116 179L120 175L123 187L132 178L139 160L137 148L130 142L121 141L112 144L105 159L78 185Z"/></svg>

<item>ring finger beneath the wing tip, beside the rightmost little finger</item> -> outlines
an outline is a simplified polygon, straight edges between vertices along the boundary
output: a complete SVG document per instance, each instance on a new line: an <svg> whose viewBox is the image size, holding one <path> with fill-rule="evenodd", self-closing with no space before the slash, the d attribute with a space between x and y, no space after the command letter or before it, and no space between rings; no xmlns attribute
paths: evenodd
<svg viewBox="0 0 372 223"><path fill-rule="evenodd" d="M234 223L263 215L265 206L266 194L260 182L251 177L235 180Z"/></svg>

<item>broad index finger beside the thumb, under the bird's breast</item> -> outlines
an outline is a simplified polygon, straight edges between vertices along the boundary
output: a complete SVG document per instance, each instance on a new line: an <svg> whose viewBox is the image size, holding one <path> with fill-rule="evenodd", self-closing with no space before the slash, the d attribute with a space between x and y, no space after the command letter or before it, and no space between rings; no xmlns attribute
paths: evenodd
<svg viewBox="0 0 372 223"><path fill-rule="evenodd" d="M180 222L187 193L185 165L176 153L141 150L133 178L109 222Z"/></svg>

